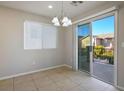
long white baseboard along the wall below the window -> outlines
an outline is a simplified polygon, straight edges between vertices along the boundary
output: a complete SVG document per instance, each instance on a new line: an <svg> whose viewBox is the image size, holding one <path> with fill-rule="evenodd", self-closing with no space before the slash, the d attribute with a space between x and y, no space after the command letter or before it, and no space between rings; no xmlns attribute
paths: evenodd
<svg viewBox="0 0 124 93"><path fill-rule="evenodd" d="M19 74L15 74L15 75L1 77L0 80L9 79L9 78L18 77L18 76L23 76L23 75L27 75L27 74L32 74L32 73L35 73L35 72L45 71L45 70L54 69L54 68L58 68L58 67L62 67L62 66L70 67L70 66L68 66L66 64L62 64L62 65L42 68L42 69L38 69L38 70L34 70L34 71L29 71L29 72L19 73Z"/></svg>

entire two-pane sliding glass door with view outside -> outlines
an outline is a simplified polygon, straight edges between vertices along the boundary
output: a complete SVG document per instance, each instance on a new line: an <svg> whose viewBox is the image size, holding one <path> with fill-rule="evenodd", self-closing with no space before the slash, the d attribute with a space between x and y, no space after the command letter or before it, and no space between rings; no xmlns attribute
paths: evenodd
<svg viewBox="0 0 124 93"><path fill-rule="evenodd" d="M114 20L110 15L78 25L78 69L110 84L114 84Z"/></svg>

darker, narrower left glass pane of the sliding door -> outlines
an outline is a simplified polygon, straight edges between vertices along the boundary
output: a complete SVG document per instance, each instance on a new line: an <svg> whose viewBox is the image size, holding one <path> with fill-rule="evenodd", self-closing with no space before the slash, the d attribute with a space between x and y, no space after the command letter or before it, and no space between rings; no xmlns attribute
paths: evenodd
<svg viewBox="0 0 124 93"><path fill-rule="evenodd" d="M90 71L90 24L78 26L78 68Z"/></svg>

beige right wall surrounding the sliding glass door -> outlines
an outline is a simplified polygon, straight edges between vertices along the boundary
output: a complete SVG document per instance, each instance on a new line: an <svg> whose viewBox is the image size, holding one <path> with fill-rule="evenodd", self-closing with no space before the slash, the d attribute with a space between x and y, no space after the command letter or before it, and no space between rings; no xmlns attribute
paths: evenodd
<svg viewBox="0 0 124 93"><path fill-rule="evenodd" d="M124 2L108 2L108 4L99 6L92 11L88 11L87 13L83 13L80 16L75 17L73 20L79 20L84 17L90 16L92 14L98 13L104 9L110 8L113 5L119 5L119 29L118 29L118 86L124 88L124 48L121 47L121 43L124 42ZM74 26L70 26L65 31L65 61L66 64L74 66Z"/></svg>

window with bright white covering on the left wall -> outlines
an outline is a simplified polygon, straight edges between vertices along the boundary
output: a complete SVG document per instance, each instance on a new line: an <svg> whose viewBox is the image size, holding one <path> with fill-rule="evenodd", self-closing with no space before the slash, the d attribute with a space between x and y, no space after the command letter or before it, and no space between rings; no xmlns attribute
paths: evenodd
<svg viewBox="0 0 124 93"><path fill-rule="evenodd" d="M57 28L50 24L24 22L24 49L56 48Z"/></svg>

